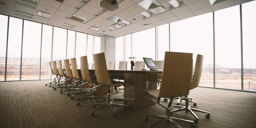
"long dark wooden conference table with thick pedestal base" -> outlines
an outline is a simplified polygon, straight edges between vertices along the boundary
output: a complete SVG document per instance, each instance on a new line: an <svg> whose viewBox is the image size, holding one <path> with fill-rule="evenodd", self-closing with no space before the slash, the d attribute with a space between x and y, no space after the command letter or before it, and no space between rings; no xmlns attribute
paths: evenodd
<svg viewBox="0 0 256 128"><path fill-rule="evenodd" d="M90 69L90 72L95 70ZM124 105L128 105L128 109L133 111L145 108L155 104L153 101L145 97L146 80L157 80L157 74L163 71L145 71L145 70L108 70L109 74L124 74L126 83L129 83L124 89ZM111 75L110 75L111 76ZM114 77L111 79L123 79L122 77ZM156 89L157 83L149 82L148 89ZM104 90L104 91L103 91ZM107 94L107 86L97 89L97 95Z"/></svg>

